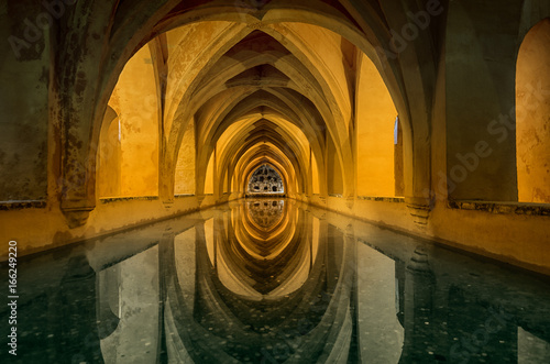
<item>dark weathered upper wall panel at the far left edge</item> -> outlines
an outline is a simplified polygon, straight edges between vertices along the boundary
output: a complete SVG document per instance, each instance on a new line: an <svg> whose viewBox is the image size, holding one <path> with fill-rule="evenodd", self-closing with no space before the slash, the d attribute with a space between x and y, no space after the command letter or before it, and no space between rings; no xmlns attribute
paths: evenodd
<svg viewBox="0 0 550 364"><path fill-rule="evenodd" d="M46 199L51 51L35 21L42 12L40 2L0 5L0 201Z"/></svg>

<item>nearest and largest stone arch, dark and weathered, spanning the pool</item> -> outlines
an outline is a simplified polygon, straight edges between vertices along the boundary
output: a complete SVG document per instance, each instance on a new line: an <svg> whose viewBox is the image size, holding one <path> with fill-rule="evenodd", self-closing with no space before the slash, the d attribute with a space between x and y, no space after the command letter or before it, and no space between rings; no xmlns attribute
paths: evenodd
<svg viewBox="0 0 550 364"><path fill-rule="evenodd" d="M392 29L402 29L410 22L407 18L408 11L424 11L424 9L411 4L403 7L384 4L381 9L374 9L371 4L355 7L348 2L311 7L308 1L293 1L292 3L272 1L256 7L244 7L240 3L228 5L221 1L208 1L189 8L180 5L179 1L155 4L142 1L134 3L132 9L114 7L98 0L72 9L73 16L81 18L82 23L90 22L86 31L72 29L68 18L64 18L59 24L59 29L66 32L61 32L64 34L63 40L56 44L65 51L57 54L56 75L59 79L78 81L72 85L62 82L52 87L52 99L55 100L52 104L52 115L59 121L59 123L54 122L61 125L59 134L66 135L61 141L63 155L62 178L59 179L63 185L61 207L67 216L78 216L73 219L76 224L84 223L87 213L95 208L96 158L92 155L95 155L95 145L99 140L102 114L118 75L128 59L141 48L141 45L168 30L200 21L232 21L251 29L261 29L270 24L275 24L272 26L275 29L278 26L276 24L282 22L293 24L307 22L342 35L370 56L388 86L404 122L406 199L411 206L428 203L422 192L430 186L429 110L432 97L430 82L435 75L433 62L427 62L431 58L430 52L432 52L430 33L429 31L420 32L408 43L407 48L403 49L399 57L382 57L383 54L376 52L377 48L384 48L391 43L393 33L389 31ZM91 24L91 19L94 19L94 24ZM278 31L282 34L288 29L284 30L279 26ZM298 46L298 33L286 33L295 37L295 46ZM110 36L106 40L98 37L97 34L110 34ZM101 52L89 53L90 47L101 49ZM160 108L164 108L166 79L163 79L163 73L166 70L166 49L163 48L162 42L157 42L153 49L152 58L155 59L158 100L162 103ZM416 64L418 67L411 66ZM66 65L72 66L66 67ZM322 87L333 93L333 87L327 84L328 79L323 82L326 85ZM86 88L79 89L79 85L84 84ZM79 97L73 98L72 95L79 95ZM337 100L340 98L338 95L334 96ZM338 112L339 108L333 108L333 110ZM350 139L353 126L351 120L346 120L345 113L337 115L341 118L340 120L333 120L333 117L328 118L330 120L326 118L324 121L329 126L332 123L329 130L336 141L338 158L344 174L343 192L346 198L353 198L355 195L353 167L345 167L350 163L353 165L353 145ZM72 122L64 122L66 120ZM188 121L184 120L182 124L185 125L186 122ZM166 126L170 121L163 120L162 123ZM166 147L170 143L174 151L177 151L180 133L177 132L174 139L168 136L169 133L165 129L161 131L163 133L160 136L162 153L167 151ZM161 162L161 168L174 170L176 161L166 159L166 154L162 154ZM174 185L173 178L166 178L169 176L170 173L161 172L158 188L163 200L169 200L173 195L170 194Z"/></svg>

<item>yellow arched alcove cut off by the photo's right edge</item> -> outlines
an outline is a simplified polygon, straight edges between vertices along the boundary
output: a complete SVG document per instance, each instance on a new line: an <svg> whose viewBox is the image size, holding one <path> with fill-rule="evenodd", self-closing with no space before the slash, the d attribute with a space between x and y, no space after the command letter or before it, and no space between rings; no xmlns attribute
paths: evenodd
<svg viewBox="0 0 550 364"><path fill-rule="evenodd" d="M516 71L518 200L550 203L550 19L519 48Z"/></svg>

